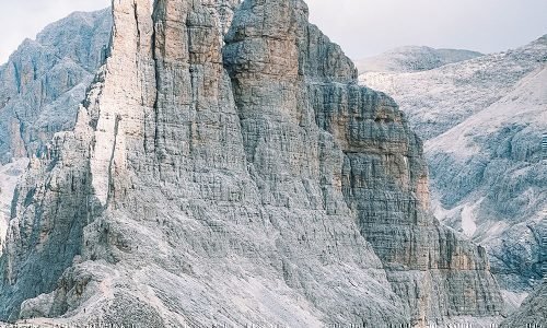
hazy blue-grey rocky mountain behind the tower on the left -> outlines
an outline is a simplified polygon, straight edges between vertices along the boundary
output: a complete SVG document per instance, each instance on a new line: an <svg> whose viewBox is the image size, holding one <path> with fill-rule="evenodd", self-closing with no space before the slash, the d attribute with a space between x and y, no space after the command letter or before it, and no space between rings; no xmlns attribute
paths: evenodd
<svg viewBox="0 0 547 328"><path fill-rule="evenodd" d="M26 39L0 66L0 247L19 176L56 132L73 128L110 30L109 10L77 12Z"/></svg>

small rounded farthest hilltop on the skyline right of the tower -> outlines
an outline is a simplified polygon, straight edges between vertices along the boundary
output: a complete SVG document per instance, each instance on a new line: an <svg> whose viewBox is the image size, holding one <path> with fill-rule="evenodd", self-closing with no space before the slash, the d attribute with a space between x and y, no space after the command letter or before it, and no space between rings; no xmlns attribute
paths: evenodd
<svg viewBox="0 0 547 328"><path fill-rule="evenodd" d="M417 72L484 56L477 51L406 46L357 61L360 73Z"/></svg>

